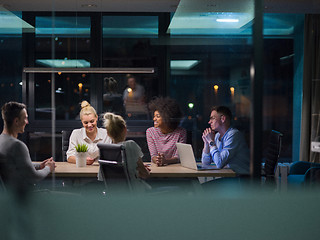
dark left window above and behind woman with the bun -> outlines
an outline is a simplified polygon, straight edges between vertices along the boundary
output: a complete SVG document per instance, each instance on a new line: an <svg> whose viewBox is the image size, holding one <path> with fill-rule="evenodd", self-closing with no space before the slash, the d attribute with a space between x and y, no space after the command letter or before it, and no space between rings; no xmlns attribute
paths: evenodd
<svg viewBox="0 0 320 240"><path fill-rule="evenodd" d="M35 67L89 68L90 17L36 17ZM35 119L51 119L51 83L55 81L56 119L76 119L79 103L90 101L92 76L85 73L35 74Z"/></svg>

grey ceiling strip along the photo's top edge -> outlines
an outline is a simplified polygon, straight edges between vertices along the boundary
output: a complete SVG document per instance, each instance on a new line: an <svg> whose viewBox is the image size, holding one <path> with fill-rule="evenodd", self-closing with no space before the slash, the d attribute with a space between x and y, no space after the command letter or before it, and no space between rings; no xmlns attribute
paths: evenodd
<svg viewBox="0 0 320 240"><path fill-rule="evenodd" d="M180 0L0 0L10 11L174 12ZM197 1L197 0L195 0ZM228 0L206 0L209 7ZM265 12L320 13L320 0L265 0ZM92 7L89 7L92 5Z"/></svg>

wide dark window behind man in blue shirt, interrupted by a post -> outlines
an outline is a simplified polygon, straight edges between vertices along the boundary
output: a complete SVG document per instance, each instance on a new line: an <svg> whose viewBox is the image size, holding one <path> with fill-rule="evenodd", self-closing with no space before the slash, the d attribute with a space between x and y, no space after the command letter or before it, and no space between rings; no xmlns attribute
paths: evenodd
<svg viewBox="0 0 320 240"><path fill-rule="evenodd" d="M171 29L169 90L185 112L186 127L197 136L194 139L197 156L201 156L201 133L208 127L210 108L214 105L225 105L232 110L233 125L245 134L249 144L251 25L242 27L241 31L232 28L222 31L217 26L210 31L179 28L176 26L180 15ZM211 18L218 16L212 15ZM294 62L302 58L295 54L295 50L302 48L295 36L302 34L297 28L302 22L301 15L264 15L263 149L270 130L282 132L281 161L292 158ZM297 45L300 49L294 48Z"/></svg>

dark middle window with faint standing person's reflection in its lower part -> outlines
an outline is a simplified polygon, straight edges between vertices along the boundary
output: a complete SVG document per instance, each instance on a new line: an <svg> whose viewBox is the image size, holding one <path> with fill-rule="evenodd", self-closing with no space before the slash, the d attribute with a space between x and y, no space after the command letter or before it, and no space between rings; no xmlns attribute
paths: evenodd
<svg viewBox="0 0 320 240"><path fill-rule="evenodd" d="M159 53L158 45L154 44L158 40L158 29L157 15L103 16L103 67L154 68L159 71L159 62L164 59ZM108 89L110 77L117 81L115 90ZM136 84L144 89L143 101L126 101L127 87L130 87L126 74L106 74L104 96L111 92L124 98L124 109L116 112L121 113L125 119L150 119L147 104L153 96L159 95L159 76L155 73L136 74L133 77ZM110 101L104 100L103 110L114 110L109 105Z"/></svg>

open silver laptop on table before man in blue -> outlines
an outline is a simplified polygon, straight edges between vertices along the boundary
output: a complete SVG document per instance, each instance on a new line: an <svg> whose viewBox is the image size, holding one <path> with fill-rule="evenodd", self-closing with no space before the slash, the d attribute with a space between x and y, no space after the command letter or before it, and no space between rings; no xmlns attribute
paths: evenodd
<svg viewBox="0 0 320 240"><path fill-rule="evenodd" d="M193 149L191 144L186 143L176 143L178 154L180 158L180 163L182 167L191 168L194 170L210 170L210 169L219 169L215 165L202 165L201 163L196 162L196 159L193 154Z"/></svg>

